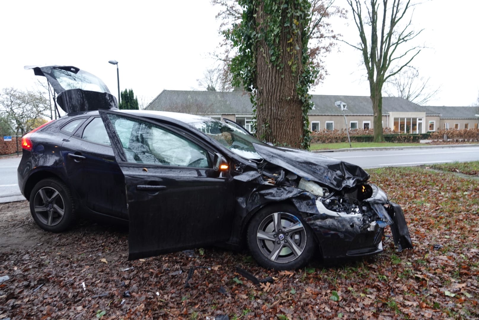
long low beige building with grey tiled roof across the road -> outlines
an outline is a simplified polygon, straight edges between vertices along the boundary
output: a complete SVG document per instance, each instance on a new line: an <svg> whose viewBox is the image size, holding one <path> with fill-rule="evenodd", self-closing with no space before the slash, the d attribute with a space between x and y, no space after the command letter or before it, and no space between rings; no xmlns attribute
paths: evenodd
<svg viewBox="0 0 479 320"><path fill-rule="evenodd" d="M308 113L312 131L373 128L368 96L312 95ZM251 131L252 104L248 92L163 90L147 110L200 114L230 119ZM477 128L479 107L420 106L402 98L383 97L383 127L404 133L427 133L441 128ZM346 120L344 119L346 117Z"/></svg>

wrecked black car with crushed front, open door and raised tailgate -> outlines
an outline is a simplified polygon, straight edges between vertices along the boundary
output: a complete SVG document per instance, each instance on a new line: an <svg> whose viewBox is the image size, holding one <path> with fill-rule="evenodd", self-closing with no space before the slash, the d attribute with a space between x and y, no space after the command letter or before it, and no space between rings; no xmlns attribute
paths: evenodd
<svg viewBox="0 0 479 320"><path fill-rule="evenodd" d="M246 244L277 270L412 248L401 207L360 167L269 146L231 122L118 110L103 81L71 66L31 67L68 113L23 137L18 182L42 229L76 217L127 221L129 259Z"/></svg>

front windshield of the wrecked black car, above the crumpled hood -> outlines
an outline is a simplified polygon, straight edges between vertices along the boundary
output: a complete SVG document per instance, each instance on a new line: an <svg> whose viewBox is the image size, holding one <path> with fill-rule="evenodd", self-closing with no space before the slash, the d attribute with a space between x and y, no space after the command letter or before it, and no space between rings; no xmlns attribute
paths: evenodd
<svg viewBox="0 0 479 320"><path fill-rule="evenodd" d="M236 128L235 126L213 119L203 122L190 123L190 125L205 133L208 137L217 140L223 146L238 154L242 158L250 160L262 159L262 157L254 149L253 143L263 143L250 134Z"/></svg>

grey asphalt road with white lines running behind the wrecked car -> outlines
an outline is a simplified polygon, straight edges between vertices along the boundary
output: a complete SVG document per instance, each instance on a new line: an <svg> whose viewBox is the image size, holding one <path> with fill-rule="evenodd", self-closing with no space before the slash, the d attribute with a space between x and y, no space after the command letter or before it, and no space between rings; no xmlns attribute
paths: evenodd
<svg viewBox="0 0 479 320"><path fill-rule="evenodd" d="M363 168L399 167L479 160L479 145L352 149L351 151L321 153L332 158L354 163ZM19 162L20 157L0 157L0 203L25 199L20 193L17 182Z"/></svg>

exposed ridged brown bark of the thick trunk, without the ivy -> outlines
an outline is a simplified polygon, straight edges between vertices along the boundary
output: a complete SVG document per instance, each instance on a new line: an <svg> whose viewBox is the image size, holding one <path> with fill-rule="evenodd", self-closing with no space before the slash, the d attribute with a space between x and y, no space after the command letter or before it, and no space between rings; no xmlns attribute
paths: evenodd
<svg viewBox="0 0 479 320"><path fill-rule="evenodd" d="M264 11L262 3L258 6L257 25L260 32ZM282 18L281 25L285 24L286 17ZM293 22L291 22L293 23ZM295 39L297 46L288 43L288 33L281 32L279 46L281 47L280 64L284 65L283 70L271 63L270 49L264 40L257 44L257 69L256 69L256 116L257 136L267 142L279 145L288 145L295 148L302 148L303 136L303 114L302 103L298 98L296 85L298 72L301 70L301 50L290 50L288 47L301 47L301 38ZM295 57L298 70L294 74L288 60Z"/></svg>

